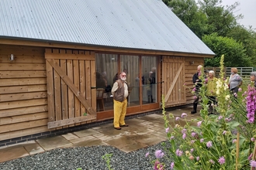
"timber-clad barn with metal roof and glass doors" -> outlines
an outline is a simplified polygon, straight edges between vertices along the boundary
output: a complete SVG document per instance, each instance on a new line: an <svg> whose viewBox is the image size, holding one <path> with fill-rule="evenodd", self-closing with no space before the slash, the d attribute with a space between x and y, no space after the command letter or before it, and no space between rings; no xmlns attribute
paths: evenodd
<svg viewBox="0 0 256 170"><path fill-rule="evenodd" d="M112 121L126 71L127 114L191 104L214 53L161 0L1 0L0 146ZM155 82L149 83L150 76Z"/></svg>

